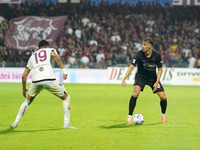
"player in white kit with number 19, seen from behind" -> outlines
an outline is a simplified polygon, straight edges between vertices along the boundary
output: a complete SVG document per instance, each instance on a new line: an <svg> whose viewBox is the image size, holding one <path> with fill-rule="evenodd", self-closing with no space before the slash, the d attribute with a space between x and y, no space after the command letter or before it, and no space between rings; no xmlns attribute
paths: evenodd
<svg viewBox="0 0 200 150"><path fill-rule="evenodd" d="M41 90L46 89L63 100L63 128L76 129L70 125L70 96L67 94L65 87L56 80L51 66L51 58L54 58L62 69L63 79L67 79L67 73L64 69L60 56L57 54L54 48L49 47L49 43L46 40L41 40L38 43L38 47L39 50L31 55L22 75L23 96L26 98L26 100L21 105L16 119L10 127L16 128L18 126L20 119L37 94L39 94ZM26 80L31 70L32 83L29 90L27 90ZM28 97L26 97L27 91Z"/></svg>

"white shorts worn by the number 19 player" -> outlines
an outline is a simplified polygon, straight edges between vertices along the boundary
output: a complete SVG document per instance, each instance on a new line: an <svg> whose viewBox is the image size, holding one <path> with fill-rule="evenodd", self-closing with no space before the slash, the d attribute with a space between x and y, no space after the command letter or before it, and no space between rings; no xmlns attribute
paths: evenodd
<svg viewBox="0 0 200 150"><path fill-rule="evenodd" d="M31 83L30 88L28 90L28 94L31 97L35 97L43 89L48 90L57 97L62 97L65 94L67 94L65 87L62 85L62 83L58 82L57 80Z"/></svg>

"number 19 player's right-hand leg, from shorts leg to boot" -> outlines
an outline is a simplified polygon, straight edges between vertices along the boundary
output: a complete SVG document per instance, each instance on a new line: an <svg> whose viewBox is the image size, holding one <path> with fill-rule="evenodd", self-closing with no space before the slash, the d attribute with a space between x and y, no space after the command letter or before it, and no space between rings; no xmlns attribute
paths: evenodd
<svg viewBox="0 0 200 150"><path fill-rule="evenodd" d="M63 128L76 129L75 127L70 125L70 113L71 113L70 95L67 94L65 87L57 80L55 80L54 82L49 84L46 87L46 89L63 100L63 115L64 115Z"/></svg>

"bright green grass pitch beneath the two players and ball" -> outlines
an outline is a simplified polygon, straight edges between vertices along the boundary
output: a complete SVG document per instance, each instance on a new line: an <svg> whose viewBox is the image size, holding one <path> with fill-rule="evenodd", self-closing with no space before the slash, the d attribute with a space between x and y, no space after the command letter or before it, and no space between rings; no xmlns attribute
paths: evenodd
<svg viewBox="0 0 200 150"><path fill-rule="evenodd" d="M146 86L135 113L143 125L127 125L132 85L64 84L71 96L71 124L62 129L62 101L42 91L16 129L9 129L25 100L20 83L0 83L1 150L198 150L200 94L198 86L164 86L167 124L161 124L160 102ZM29 84L27 85L29 87Z"/></svg>

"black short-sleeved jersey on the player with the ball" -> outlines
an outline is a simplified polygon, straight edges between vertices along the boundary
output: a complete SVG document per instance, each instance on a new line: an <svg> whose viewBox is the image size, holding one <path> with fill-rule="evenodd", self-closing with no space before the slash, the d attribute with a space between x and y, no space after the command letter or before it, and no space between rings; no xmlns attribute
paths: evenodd
<svg viewBox="0 0 200 150"><path fill-rule="evenodd" d="M152 50L152 54L148 58L143 50L138 51L133 59L132 65L137 65L137 75L142 76L146 80L156 80L156 67L162 67L161 55L157 51Z"/></svg>

